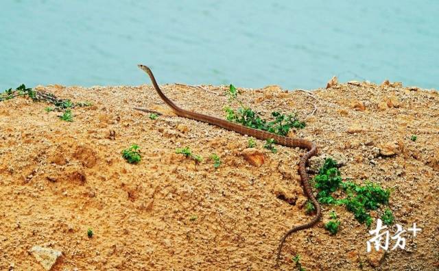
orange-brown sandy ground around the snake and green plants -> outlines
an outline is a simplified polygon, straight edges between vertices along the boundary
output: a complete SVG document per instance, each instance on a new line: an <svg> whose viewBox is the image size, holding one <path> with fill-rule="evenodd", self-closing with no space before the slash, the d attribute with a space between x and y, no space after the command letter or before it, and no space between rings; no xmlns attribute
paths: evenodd
<svg viewBox="0 0 439 271"><path fill-rule="evenodd" d="M256 140L265 162L252 166L243 157L248 138L175 116L149 85L38 89L93 106L64 122L45 103L0 103L1 270L43 270L32 246L62 251L52 270L272 270L283 233L311 219L296 172L302 149L277 146L274 154ZM185 109L221 118L226 89L163 86ZM366 253L364 224L344 207L324 206L321 222L287 239L281 270L297 270L297 254L306 270L438 270L438 92L366 82L313 97L277 86L239 90L264 116L296 111L307 127L294 136L318 144L316 159L336 157L342 176L391 188L396 222L422 229L405 235L405 250ZM141 147L137 165L121 157L131 144ZM176 154L183 146L204 160ZM216 170L212 153L222 159ZM336 235L324 229L332 209Z"/></svg>

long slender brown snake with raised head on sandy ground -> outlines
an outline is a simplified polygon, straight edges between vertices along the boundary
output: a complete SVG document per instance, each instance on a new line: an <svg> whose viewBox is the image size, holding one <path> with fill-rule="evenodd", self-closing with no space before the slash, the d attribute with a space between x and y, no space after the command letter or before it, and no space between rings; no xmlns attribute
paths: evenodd
<svg viewBox="0 0 439 271"><path fill-rule="evenodd" d="M268 131L253 129L250 127L246 127L244 125L239 125L235 122L230 122L227 120L223 120L221 118L215 118L214 116L208 116L208 115L204 115L204 114L200 114L200 113L196 113L196 112L191 112L191 111L188 111L186 109L182 109L182 108L178 107L169 98L167 98L167 96L163 93L163 91L158 86L158 83L157 83L154 75L152 74L152 71L150 68L148 68L147 66L142 65L142 64L139 64L137 66L139 66L139 68L141 68L141 70L143 70L145 73L147 73L147 75L149 75L149 77L152 81L152 85L154 86L154 89L156 90L158 96L160 96L160 98L169 107L171 107L172 111L174 111L174 113L177 116L180 116L183 118L190 118L192 120L198 120L200 122L206 122L206 123L209 123L210 125L215 125L217 127L221 127L221 128L226 129L226 130L229 130L229 131L235 131L236 133L240 133L241 135L249 135L249 136L252 136L254 138L258 138L259 140L273 139L276 144L281 144L283 146L292 147L292 148L299 147L302 149L307 149L307 153L305 153L304 155L302 155L302 157L300 157L300 162L298 164L298 173L300 175L300 180L302 182L302 187L304 188L305 194L309 198L309 201L311 201L311 203L313 203L313 205L316 209L316 215L313 217L313 219L311 221L309 221L305 224L300 224L296 227L292 227L292 229L289 229L289 231L287 231L281 237L281 242L279 242L277 254L276 254L276 266L278 266L278 262L279 262L279 259L281 257L282 247L283 247L283 244L285 243L285 240L287 239L287 237L296 231L301 231L303 229L308 229L308 228L312 227L314 224L316 224L320 220L320 218L322 216L322 209L320 207L320 204L318 203L318 201L316 200L316 198L313 195L313 192L311 190L311 185L309 184L308 175L307 175L307 172L305 170L305 166L306 166L309 158L311 158L313 155L316 155L316 153L317 153L316 143L309 141L309 140L301 139L301 138L289 138L286 136L277 135L275 133L270 133ZM146 110L146 109L140 109L140 108L134 108L134 109L137 109L137 110L140 110L143 112L148 112L148 110Z"/></svg>

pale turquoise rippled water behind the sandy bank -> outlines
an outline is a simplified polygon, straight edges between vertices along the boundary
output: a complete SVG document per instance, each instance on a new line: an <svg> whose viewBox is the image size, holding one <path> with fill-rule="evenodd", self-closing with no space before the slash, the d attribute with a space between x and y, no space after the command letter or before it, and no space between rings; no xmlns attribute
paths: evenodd
<svg viewBox="0 0 439 271"><path fill-rule="evenodd" d="M49 83L318 88L384 79L439 88L439 1L12 1L0 90Z"/></svg>

